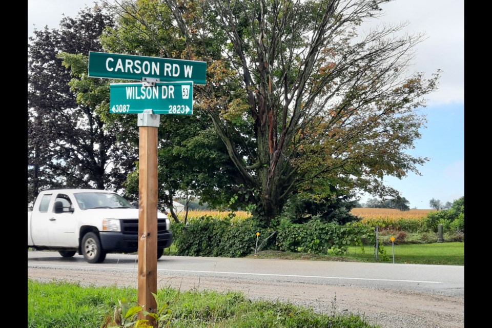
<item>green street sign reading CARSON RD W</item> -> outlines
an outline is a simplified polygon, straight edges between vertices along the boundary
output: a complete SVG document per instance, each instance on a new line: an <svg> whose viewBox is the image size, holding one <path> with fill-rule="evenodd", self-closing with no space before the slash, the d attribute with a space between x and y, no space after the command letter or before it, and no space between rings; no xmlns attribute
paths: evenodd
<svg viewBox="0 0 492 328"><path fill-rule="evenodd" d="M89 77L159 81L193 81L206 84L205 61L89 52Z"/></svg>

